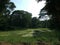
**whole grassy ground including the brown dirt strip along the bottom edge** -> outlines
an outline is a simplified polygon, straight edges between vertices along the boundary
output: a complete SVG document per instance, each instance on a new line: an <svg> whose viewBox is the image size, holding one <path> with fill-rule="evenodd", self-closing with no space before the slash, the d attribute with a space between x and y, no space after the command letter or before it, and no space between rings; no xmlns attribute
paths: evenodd
<svg viewBox="0 0 60 45"><path fill-rule="evenodd" d="M54 30L47 28L0 31L0 45L58 45Z"/></svg>

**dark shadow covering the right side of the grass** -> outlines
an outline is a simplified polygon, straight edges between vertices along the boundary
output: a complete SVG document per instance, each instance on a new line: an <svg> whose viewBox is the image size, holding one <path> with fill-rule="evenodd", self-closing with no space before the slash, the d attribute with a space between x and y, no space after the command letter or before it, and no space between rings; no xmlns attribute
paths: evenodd
<svg viewBox="0 0 60 45"><path fill-rule="evenodd" d="M50 42L53 45L60 45L59 39L60 39L60 33L52 31L38 31L35 30L33 33L33 37L37 38L38 42L41 42L41 44L45 44L44 42ZM58 38L59 37L59 38ZM40 43L38 43L40 44Z"/></svg>

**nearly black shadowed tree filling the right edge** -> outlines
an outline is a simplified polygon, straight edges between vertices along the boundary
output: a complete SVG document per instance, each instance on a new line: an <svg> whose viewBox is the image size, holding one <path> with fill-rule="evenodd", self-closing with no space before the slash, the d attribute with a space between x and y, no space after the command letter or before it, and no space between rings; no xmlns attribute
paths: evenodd
<svg viewBox="0 0 60 45"><path fill-rule="evenodd" d="M38 0L39 2L40 0ZM42 10L47 11L47 15L52 15L50 20L51 28L60 29L60 0L46 0L46 5Z"/></svg>

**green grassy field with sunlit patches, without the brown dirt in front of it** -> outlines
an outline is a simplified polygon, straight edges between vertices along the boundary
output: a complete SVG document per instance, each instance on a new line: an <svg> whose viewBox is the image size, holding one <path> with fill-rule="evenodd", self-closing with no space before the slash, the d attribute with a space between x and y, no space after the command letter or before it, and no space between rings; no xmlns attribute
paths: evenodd
<svg viewBox="0 0 60 45"><path fill-rule="evenodd" d="M47 28L0 31L0 41L15 43L35 42L38 40L54 43L58 42L55 32Z"/></svg>

